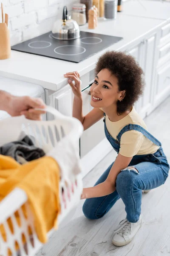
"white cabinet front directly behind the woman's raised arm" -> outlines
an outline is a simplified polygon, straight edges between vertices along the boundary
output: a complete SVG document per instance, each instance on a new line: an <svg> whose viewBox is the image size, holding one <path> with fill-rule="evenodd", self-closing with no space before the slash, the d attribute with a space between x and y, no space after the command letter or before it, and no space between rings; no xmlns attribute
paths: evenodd
<svg viewBox="0 0 170 256"><path fill-rule="evenodd" d="M90 105L91 95L90 87L82 92L83 96L83 114L88 114L93 108ZM80 157L84 157L96 145L105 138L104 122L102 119L87 130L85 130L80 138ZM95 157L95 156L94 156Z"/></svg>

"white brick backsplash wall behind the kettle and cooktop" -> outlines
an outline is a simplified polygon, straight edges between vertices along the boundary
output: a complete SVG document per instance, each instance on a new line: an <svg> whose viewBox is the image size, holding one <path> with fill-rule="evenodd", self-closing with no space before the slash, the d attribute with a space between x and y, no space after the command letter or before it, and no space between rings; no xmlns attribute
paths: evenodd
<svg viewBox="0 0 170 256"><path fill-rule="evenodd" d="M0 0L9 15L11 45L49 32L56 19L62 18L63 6L71 7L79 0ZM1 12L0 12L1 13ZM0 20L1 22L1 20Z"/></svg>

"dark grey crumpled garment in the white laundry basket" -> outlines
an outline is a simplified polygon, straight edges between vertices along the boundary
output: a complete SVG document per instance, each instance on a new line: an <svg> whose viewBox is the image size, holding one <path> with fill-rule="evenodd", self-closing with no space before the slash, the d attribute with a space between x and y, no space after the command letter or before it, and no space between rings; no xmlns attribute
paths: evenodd
<svg viewBox="0 0 170 256"><path fill-rule="evenodd" d="M7 143L0 147L0 154L14 158L18 163L24 163L26 161L36 160L45 155L45 152L41 148L34 146L32 140L25 136L23 140Z"/></svg>

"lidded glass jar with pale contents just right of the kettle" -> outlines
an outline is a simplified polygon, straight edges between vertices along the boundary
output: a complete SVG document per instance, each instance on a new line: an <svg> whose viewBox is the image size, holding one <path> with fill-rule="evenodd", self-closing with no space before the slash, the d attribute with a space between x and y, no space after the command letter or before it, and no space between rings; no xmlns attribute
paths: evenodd
<svg viewBox="0 0 170 256"><path fill-rule="evenodd" d="M78 25L84 25L86 23L85 4L75 3L72 7L72 20L76 20Z"/></svg>

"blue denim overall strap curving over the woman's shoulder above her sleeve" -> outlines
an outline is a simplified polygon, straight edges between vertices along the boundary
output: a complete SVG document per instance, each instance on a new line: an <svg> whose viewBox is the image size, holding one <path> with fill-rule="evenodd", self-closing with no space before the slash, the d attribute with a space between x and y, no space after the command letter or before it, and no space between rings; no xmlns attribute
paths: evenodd
<svg viewBox="0 0 170 256"><path fill-rule="evenodd" d="M156 144L157 146L161 147L161 143L159 140L157 140L155 137L153 137L152 134L150 134L147 130L145 130L142 126L140 125L133 125L133 124L129 124L126 125L124 128L122 128L122 130L119 132L119 134L117 135L117 140L120 142L122 134L124 134L126 131L139 131L141 132L145 137L147 137L147 139L149 139L150 141L152 141L154 144Z"/></svg>

